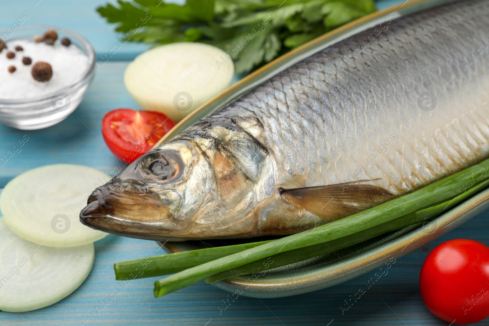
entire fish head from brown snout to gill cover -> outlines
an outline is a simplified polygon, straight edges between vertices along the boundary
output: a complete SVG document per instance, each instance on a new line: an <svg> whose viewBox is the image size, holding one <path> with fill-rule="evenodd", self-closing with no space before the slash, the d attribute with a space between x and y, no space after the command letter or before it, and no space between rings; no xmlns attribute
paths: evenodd
<svg viewBox="0 0 489 326"><path fill-rule="evenodd" d="M139 239L213 239L250 232L255 222L243 221L259 200L267 157L256 141L250 142L241 130L217 126L164 143L95 189L80 220Z"/></svg>

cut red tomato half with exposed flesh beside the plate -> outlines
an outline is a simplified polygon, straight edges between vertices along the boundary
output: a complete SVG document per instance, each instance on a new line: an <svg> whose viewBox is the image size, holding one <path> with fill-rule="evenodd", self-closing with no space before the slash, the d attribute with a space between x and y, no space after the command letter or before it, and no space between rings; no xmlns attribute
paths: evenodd
<svg viewBox="0 0 489 326"><path fill-rule="evenodd" d="M102 119L102 135L111 152L129 164L151 150L174 126L160 112L115 109Z"/></svg>

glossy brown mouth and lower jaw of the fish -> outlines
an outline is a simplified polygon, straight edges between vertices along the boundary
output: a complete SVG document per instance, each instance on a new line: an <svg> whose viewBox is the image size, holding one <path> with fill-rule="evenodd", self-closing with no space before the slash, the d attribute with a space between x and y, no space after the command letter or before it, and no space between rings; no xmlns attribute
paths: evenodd
<svg viewBox="0 0 489 326"><path fill-rule="evenodd" d="M175 237L174 221L169 206L156 194L117 192L110 185L95 189L80 212L80 222L95 230L136 239L185 240Z"/></svg>

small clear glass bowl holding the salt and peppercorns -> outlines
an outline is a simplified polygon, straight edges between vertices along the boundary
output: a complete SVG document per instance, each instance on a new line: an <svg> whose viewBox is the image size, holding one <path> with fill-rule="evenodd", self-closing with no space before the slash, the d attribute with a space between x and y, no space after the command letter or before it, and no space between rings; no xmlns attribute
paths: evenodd
<svg viewBox="0 0 489 326"><path fill-rule="evenodd" d="M5 43L12 40L32 40L34 35L43 35L48 29L54 29L58 33L56 42L68 37L72 45L86 54L89 58L87 67L75 81L55 92L23 99L0 98L0 122L6 126L34 130L63 121L78 107L93 80L95 51L85 38L72 31L47 25L26 25L16 31L11 28L0 30L0 36Z"/></svg>

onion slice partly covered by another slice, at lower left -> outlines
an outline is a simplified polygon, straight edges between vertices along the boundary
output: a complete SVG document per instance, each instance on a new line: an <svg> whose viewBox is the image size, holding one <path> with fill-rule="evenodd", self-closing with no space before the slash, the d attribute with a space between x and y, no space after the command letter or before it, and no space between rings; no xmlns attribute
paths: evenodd
<svg viewBox="0 0 489 326"><path fill-rule="evenodd" d="M45 247L15 235L0 218L0 310L23 312L54 304L76 290L93 265L93 243Z"/></svg>

